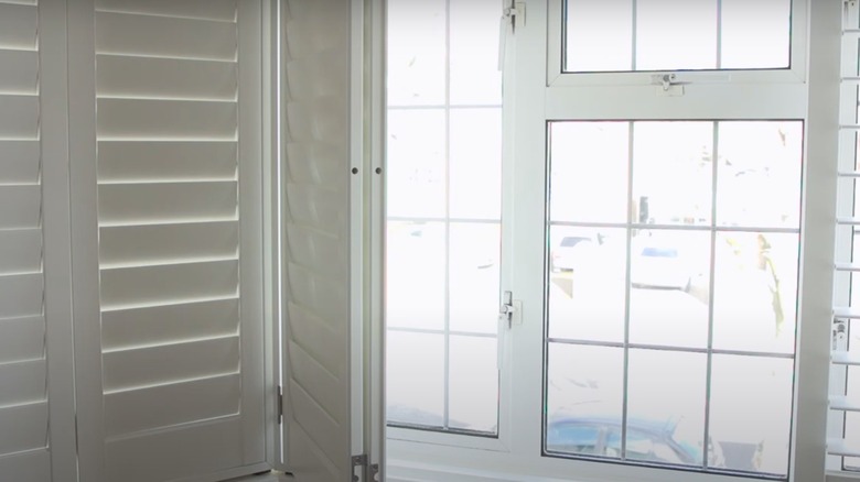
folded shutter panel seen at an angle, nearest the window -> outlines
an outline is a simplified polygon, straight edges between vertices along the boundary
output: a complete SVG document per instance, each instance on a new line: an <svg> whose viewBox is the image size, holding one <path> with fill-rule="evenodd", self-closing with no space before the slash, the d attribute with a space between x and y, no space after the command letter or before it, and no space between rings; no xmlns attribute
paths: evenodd
<svg viewBox="0 0 860 482"><path fill-rule="evenodd" d="M283 457L303 482L350 480L351 456L364 450L363 333L356 331L362 315L355 309L361 289L355 269L362 255L355 243L362 239L362 224L361 215L352 210L362 205L356 201L362 176L350 174L352 166L362 165L350 131L356 112L352 109L361 98L352 97L356 92L351 85L361 76L353 78L350 70L351 19L357 14L351 3L294 0L283 2L281 12L287 164L281 179Z"/></svg>

